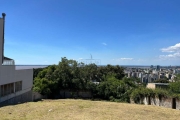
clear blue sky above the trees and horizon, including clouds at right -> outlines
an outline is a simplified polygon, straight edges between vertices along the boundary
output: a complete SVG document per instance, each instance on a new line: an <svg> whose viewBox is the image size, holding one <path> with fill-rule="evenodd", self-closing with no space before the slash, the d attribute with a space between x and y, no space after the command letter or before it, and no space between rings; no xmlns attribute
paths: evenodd
<svg viewBox="0 0 180 120"><path fill-rule="evenodd" d="M180 0L1 0L5 55L101 65L180 65Z"/></svg>

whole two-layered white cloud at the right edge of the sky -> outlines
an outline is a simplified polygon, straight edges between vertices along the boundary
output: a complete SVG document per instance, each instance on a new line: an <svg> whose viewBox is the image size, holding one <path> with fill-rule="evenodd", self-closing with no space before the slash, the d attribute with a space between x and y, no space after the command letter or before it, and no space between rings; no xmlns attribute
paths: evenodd
<svg viewBox="0 0 180 120"><path fill-rule="evenodd" d="M175 44L167 48L162 48L162 52L171 52L172 54L160 55L159 58L162 60L172 60L180 58L180 43Z"/></svg>

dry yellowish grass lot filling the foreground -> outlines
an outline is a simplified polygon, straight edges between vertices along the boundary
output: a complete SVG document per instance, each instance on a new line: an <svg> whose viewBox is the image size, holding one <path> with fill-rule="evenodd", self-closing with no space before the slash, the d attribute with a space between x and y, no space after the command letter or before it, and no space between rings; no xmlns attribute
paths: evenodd
<svg viewBox="0 0 180 120"><path fill-rule="evenodd" d="M0 108L0 120L179 120L170 108L90 100L44 100Z"/></svg>

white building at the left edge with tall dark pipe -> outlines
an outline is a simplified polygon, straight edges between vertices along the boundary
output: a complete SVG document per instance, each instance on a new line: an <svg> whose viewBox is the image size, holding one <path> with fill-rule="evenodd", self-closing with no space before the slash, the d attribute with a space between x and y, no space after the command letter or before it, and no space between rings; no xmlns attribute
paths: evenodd
<svg viewBox="0 0 180 120"><path fill-rule="evenodd" d="M16 70L14 60L4 56L5 16L0 18L0 103L32 101L33 69Z"/></svg>

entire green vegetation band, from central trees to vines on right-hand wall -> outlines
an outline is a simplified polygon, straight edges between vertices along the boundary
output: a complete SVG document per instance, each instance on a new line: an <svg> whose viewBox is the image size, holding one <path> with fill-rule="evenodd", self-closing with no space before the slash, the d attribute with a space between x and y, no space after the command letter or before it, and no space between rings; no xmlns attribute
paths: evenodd
<svg viewBox="0 0 180 120"><path fill-rule="evenodd" d="M178 76L178 75L177 75ZM160 79L157 82L167 82ZM170 83L168 89L148 89L138 78L126 78L120 66L85 65L62 58L58 65L35 70L33 90L48 98L57 98L61 90L90 91L93 98L140 103L144 97L180 98L180 82Z"/></svg>

